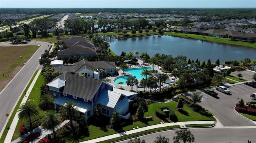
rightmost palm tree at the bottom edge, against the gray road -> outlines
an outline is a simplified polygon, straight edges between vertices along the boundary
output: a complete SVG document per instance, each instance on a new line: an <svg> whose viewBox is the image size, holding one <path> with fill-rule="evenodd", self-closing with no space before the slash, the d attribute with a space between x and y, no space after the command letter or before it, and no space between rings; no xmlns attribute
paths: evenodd
<svg viewBox="0 0 256 143"><path fill-rule="evenodd" d="M173 140L174 140L173 143L180 143L180 140L182 140L183 143L186 143L186 142L191 143L196 140L194 135L187 129L180 129L175 133L177 134L177 136L173 137Z"/></svg>

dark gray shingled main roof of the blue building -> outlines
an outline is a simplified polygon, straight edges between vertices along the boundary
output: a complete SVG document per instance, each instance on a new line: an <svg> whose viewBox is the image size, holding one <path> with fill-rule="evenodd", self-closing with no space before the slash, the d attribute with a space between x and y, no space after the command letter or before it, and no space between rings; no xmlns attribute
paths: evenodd
<svg viewBox="0 0 256 143"><path fill-rule="evenodd" d="M70 74L63 92L82 99L92 100L102 80Z"/></svg>

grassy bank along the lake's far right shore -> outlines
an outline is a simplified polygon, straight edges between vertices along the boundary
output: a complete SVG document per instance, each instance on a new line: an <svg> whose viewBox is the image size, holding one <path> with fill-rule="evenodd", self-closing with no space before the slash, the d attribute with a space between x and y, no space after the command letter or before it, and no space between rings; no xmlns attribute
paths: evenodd
<svg viewBox="0 0 256 143"><path fill-rule="evenodd" d="M164 35L172 35L172 36L192 38L192 39L201 39L204 41L212 41L212 42L217 42L217 43L222 43L222 44L230 44L230 45L238 45L238 46L243 46L243 47L256 48L255 43L248 43L248 42L242 42L242 41L231 41L231 39L229 39L229 38L219 38L219 37L210 37L210 36L185 34L185 33L174 33L174 32L165 32Z"/></svg>

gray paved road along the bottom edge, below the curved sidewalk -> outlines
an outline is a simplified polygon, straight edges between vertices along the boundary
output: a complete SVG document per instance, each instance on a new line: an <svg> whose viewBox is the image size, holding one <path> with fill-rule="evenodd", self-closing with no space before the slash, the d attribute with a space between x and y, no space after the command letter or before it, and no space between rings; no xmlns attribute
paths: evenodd
<svg viewBox="0 0 256 143"><path fill-rule="evenodd" d="M140 136L140 140L144 139L146 143L152 143L159 134L170 139L173 142L173 137L176 136L176 130L161 131L144 136ZM194 128L190 129L191 133L196 138L196 143L247 143L250 140L256 143L256 129L218 129L218 128ZM127 143L129 140L120 141L118 143Z"/></svg>

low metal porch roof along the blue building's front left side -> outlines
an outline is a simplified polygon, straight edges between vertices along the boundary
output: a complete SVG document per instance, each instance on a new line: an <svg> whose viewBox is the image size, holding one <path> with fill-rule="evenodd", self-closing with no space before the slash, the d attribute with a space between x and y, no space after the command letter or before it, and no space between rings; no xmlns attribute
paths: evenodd
<svg viewBox="0 0 256 143"><path fill-rule="evenodd" d="M89 103L74 100L65 96L60 96L59 98L54 100L54 103L58 105L65 105L66 104L65 102L69 102L69 101L74 101L74 103L77 103L78 105L75 106L74 108L76 108L79 112L82 112L82 113L85 113L88 109L92 107L92 105Z"/></svg>

